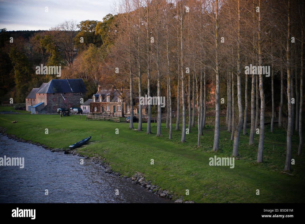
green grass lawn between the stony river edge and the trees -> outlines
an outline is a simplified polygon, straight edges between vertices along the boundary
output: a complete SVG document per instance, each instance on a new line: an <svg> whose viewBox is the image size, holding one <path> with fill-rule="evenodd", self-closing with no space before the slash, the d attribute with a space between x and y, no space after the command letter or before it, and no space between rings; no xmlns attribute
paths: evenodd
<svg viewBox="0 0 305 224"><path fill-rule="evenodd" d="M18 122L12 124L13 120ZM270 133L270 125L265 126L264 163L256 163L259 135L255 136L255 144L249 146L247 130L247 135L240 136L240 156L235 160L234 169L209 165L209 158L214 155L232 155L233 141L226 130L220 131L220 149L213 152L214 131L208 128L197 148L196 127L186 135L186 142L180 143L181 131L173 130L173 139L169 140L165 123L162 123L162 137L155 136L156 123L152 123L153 134L148 135L145 131L130 130L129 123L85 121L85 116L81 116L81 120L79 116L59 120L56 115L0 115L0 126L6 127L7 133L53 148L67 148L92 135L91 140L102 141L81 148L82 154L105 157L112 170L123 175L142 172L152 184L172 190L186 201L304 202L305 163L304 155L297 156L298 134L292 137L292 158L296 162L292 165L291 176L281 172L285 163L286 132L275 128L274 133ZM138 123L134 123L134 127L137 126ZM48 128L48 134L45 134L45 128ZM116 128L119 134L115 134ZM146 123L143 130L146 130ZM151 159L154 159L154 165L150 164ZM186 189L189 195L185 195ZM260 195L256 195L257 189Z"/></svg>

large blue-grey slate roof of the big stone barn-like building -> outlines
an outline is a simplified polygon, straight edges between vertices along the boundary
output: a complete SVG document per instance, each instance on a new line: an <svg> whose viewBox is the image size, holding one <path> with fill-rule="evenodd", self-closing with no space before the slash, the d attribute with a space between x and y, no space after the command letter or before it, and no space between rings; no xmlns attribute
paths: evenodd
<svg viewBox="0 0 305 224"><path fill-rule="evenodd" d="M41 85L36 93L81 93L87 92L82 79L52 79Z"/></svg>

